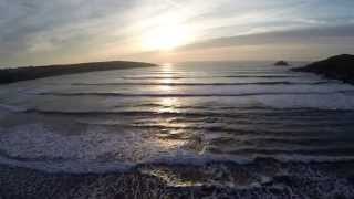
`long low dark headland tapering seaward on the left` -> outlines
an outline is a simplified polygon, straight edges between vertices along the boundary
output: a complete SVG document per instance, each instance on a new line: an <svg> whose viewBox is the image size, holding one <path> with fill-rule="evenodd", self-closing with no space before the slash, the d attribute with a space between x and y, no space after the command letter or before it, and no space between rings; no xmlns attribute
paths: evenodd
<svg viewBox="0 0 354 199"><path fill-rule="evenodd" d="M93 62L66 65L46 65L46 66L28 66L17 69L0 70L0 84L8 84L19 81L35 80L49 76L59 76L66 74L86 73L94 71L108 71L132 67L154 66L155 64L143 62Z"/></svg>

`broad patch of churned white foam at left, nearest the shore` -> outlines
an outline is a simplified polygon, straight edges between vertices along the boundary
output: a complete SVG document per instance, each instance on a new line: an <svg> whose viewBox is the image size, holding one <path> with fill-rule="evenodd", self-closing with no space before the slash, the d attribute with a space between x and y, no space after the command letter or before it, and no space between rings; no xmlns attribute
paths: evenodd
<svg viewBox="0 0 354 199"><path fill-rule="evenodd" d="M174 157L181 143L163 143L133 132L91 126L84 134L61 135L42 124L19 125L0 135L1 163L46 171L106 171Z"/></svg>

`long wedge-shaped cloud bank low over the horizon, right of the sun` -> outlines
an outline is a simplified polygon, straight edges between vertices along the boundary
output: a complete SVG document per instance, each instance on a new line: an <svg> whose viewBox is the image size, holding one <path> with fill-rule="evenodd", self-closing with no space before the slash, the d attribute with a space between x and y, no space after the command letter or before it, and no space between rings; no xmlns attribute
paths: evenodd
<svg viewBox="0 0 354 199"><path fill-rule="evenodd" d="M160 62L222 60L315 61L354 53L354 25L294 29L227 36L189 44L170 53L133 54ZM153 59L152 59L153 57Z"/></svg>

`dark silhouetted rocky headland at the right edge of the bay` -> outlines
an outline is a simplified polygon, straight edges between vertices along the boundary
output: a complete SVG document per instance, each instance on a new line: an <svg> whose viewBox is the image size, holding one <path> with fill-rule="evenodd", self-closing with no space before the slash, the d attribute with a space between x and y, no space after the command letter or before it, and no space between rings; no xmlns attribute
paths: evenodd
<svg viewBox="0 0 354 199"><path fill-rule="evenodd" d="M342 54L314 62L308 66L293 69L296 72L311 72L329 78L354 84L354 55Z"/></svg>

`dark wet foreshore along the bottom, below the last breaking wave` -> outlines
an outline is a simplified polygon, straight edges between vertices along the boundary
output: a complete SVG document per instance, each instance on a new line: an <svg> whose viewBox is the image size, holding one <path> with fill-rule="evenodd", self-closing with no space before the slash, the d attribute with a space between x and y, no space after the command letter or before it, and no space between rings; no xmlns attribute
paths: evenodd
<svg viewBox="0 0 354 199"><path fill-rule="evenodd" d="M105 174L44 172L0 165L3 198L350 198L354 161L147 164Z"/></svg>

